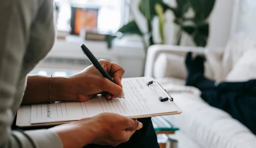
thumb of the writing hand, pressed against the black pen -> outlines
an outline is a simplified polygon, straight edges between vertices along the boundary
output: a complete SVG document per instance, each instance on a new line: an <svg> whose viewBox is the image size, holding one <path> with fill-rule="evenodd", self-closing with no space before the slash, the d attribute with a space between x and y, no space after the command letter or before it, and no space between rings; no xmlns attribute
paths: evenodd
<svg viewBox="0 0 256 148"><path fill-rule="evenodd" d="M123 98L124 97L124 92L121 86L111 82L107 78L103 79L102 83L102 91L107 91L111 94L113 94L115 97L118 98Z"/></svg>

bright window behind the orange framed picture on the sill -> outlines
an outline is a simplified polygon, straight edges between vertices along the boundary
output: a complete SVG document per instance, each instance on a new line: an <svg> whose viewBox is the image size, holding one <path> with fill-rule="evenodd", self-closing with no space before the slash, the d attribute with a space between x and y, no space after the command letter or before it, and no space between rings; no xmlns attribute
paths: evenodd
<svg viewBox="0 0 256 148"><path fill-rule="evenodd" d="M128 18L125 5L126 0L55 0L59 6L57 29L70 30L71 7L97 7L97 30L103 32L116 32ZM128 7L128 8L127 8Z"/></svg>

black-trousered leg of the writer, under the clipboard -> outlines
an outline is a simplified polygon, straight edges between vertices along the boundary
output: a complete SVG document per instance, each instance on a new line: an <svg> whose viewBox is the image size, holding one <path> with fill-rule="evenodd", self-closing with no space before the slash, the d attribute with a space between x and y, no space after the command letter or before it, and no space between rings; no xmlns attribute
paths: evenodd
<svg viewBox="0 0 256 148"><path fill-rule="evenodd" d="M151 118L138 119L142 122L143 127L137 130L129 141L121 143L115 148L159 148L157 135L155 133ZM114 148L113 146L101 146L91 144L84 148Z"/></svg>

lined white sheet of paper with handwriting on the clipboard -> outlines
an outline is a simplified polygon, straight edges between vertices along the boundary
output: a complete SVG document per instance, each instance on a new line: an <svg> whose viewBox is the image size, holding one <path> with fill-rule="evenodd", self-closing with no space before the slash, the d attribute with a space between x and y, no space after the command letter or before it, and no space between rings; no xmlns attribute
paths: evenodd
<svg viewBox="0 0 256 148"><path fill-rule="evenodd" d="M128 117L178 111L172 101L160 102L163 92L150 88L146 82L150 77L122 79L125 99L107 100L97 95L86 102L55 102L31 106L31 124L79 120L103 112L118 113Z"/></svg>

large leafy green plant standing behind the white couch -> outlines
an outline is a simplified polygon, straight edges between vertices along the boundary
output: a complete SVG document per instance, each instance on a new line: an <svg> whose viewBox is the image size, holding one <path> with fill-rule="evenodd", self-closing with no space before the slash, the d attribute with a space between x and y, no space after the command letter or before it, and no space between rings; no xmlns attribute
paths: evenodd
<svg viewBox="0 0 256 148"><path fill-rule="evenodd" d="M182 33L185 32L190 35L197 46L205 47L209 36L208 17L213 10L215 0L176 0L176 3L177 6L173 7L165 4L163 0L141 0L139 10L147 20L148 31L142 32L137 22L132 20L118 30L122 34L119 38L129 34L139 35L144 43L145 53L147 54L148 47L155 44L152 35L153 18L156 16L159 18L161 44L164 44L165 12L171 10L175 16L173 21L179 26L176 45L180 45ZM186 17L189 9L192 9L194 13L194 16L190 18ZM131 13L134 15L133 11ZM116 37L115 35L108 36L108 48L112 47Z"/></svg>

